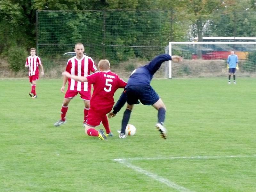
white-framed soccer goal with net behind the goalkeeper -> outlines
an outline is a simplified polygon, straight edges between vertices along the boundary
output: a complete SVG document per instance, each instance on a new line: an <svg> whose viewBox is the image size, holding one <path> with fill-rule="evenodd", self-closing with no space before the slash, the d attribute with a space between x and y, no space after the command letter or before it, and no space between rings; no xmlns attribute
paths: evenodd
<svg viewBox="0 0 256 192"><path fill-rule="evenodd" d="M169 78L226 76L232 50L238 56L237 75L255 75L256 42L170 42L166 53L182 56L183 63L169 61Z"/></svg>

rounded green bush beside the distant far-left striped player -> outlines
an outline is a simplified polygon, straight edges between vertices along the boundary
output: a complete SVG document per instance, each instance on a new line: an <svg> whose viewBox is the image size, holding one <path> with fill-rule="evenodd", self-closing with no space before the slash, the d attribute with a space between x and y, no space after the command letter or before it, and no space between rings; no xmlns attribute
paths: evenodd
<svg viewBox="0 0 256 192"><path fill-rule="evenodd" d="M14 72L18 72L20 69L25 67L26 58L28 57L28 52L23 47L13 46L9 49L8 63L9 68Z"/></svg>

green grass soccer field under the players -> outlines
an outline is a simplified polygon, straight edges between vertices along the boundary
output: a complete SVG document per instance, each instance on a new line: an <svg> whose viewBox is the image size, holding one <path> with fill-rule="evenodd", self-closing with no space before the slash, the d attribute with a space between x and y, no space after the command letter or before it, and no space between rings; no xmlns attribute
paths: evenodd
<svg viewBox="0 0 256 192"><path fill-rule="evenodd" d="M256 79L154 79L167 107L168 139L154 128L157 111L134 107L135 136L119 139L124 108L109 120L114 137L84 134L83 101L60 119L61 79L0 80L1 192L255 192ZM122 90L118 90L115 100ZM100 126L102 127L102 125Z"/></svg>

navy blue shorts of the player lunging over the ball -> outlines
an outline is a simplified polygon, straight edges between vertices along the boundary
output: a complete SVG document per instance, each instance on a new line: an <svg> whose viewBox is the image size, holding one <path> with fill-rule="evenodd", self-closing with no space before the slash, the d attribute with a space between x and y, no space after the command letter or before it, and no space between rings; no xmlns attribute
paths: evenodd
<svg viewBox="0 0 256 192"><path fill-rule="evenodd" d="M129 105L138 104L153 105L159 100L158 94L150 85L132 85L125 89L126 101Z"/></svg>

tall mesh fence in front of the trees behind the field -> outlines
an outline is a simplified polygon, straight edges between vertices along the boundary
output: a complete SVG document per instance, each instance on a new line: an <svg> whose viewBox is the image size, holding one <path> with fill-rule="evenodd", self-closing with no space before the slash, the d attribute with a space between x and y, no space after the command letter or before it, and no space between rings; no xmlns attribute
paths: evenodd
<svg viewBox="0 0 256 192"><path fill-rule="evenodd" d="M77 42L97 63L130 73L147 63L171 41L200 36L256 36L256 12L191 15L174 11L100 10L37 11L37 54L46 68L65 66ZM125 65L125 66L123 66ZM167 66L159 77L167 77Z"/></svg>

